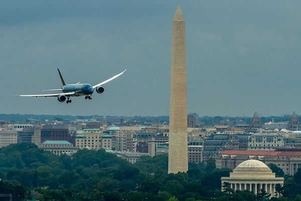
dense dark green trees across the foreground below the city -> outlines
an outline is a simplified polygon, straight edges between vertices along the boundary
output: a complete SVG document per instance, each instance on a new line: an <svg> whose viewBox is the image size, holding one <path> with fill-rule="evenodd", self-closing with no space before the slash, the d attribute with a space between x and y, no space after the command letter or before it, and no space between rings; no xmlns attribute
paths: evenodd
<svg viewBox="0 0 301 201"><path fill-rule="evenodd" d="M269 165L279 176L281 169ZM280 170L279 170L280 169ZM13 200L29 199L30 190L39 200L261 200L249 191L222 192L222 176L230 169L217 169L214 159L207 165L189 164L187 172L168 174L168 155L142 156L131 164L104 150L79 150L72 157L57 156L34 144L12 144L0 149L0 193ZM272 200L299 200L301 169L284 175L283 196ZM264 193L264 192L263 192ZM8 200L0 197L0 200Z"/></svg>

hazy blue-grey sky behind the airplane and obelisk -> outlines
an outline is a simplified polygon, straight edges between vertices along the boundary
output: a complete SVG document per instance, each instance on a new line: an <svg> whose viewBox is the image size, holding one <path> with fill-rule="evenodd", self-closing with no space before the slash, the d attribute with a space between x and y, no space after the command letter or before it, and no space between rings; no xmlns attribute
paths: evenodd
<svg viewBox="0 0 301 201"><path fill-rule="evenodd" d="M188 112L301 114L301 1L0 1L0 113L169 115L172 20L186 20ZM19 97L97 84L92 100Z"/></svg>

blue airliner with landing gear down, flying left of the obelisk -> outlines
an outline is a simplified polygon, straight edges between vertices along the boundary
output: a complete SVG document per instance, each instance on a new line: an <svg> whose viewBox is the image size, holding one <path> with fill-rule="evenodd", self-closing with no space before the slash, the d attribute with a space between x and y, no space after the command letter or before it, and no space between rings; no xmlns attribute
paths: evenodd
<svg viewBox="0 0 301 201"><path fill-rule="evenodd" d="M47 90L43 90L43 91L62 91L61 93L54 93L54 94L37 94L37 95L19 95L19 96L33 96L33 97L49 97L49 96L52 96L52 97L58 97L58 101L59 102L65 102L65 100L67 99L66 103L71 103L71 99L70 97L71 96L82 96L82 95L85 95L85 99L89 99L91 100L92 97L92 93L94 91L94 88L96 89L96 92L97 93L103 93L104 92L104 88L103 88L103 84L115 79L116 77L122 75L126 69L103 81L103 82L100 82L99 84L96 84L94 86L92 86L91 84L87 84L87 83L83 83L81 84L80 82L77 82L76 84L66 84L65 80L63 79L63 76L60 72L60 70L58 69L59 71L59 74L60 74L60 77L61 77L61 81L62 81L62 84L63 86L60 88L60 89L47 89Z"/></svg>

